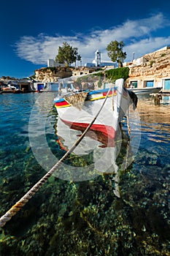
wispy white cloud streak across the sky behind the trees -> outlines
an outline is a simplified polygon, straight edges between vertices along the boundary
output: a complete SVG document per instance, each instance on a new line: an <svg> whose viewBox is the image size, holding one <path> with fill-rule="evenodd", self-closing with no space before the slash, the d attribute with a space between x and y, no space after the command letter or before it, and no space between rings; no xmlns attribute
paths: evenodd
<svg viewBox="0 0 170 256"><path fill-rule="evenodd" d="M150 53L165 45L169 45L169 37L153 37L155 31L170 26L170 21L162 13L139 20L126 20L125 23L106 30L91 31L90 34L75 34L74 37L50 37L39 34L37 37L21 37L15 45L15 51L20 59L31 61L33 64L47 64L47 59L55 59L58 47L68 42L77 47L82 56L82 63L92 62L94 53L101 51L101 59L110 60L107 56L107 45L117 40L125 42L123 50L127 53L127 61Z"/></svg>

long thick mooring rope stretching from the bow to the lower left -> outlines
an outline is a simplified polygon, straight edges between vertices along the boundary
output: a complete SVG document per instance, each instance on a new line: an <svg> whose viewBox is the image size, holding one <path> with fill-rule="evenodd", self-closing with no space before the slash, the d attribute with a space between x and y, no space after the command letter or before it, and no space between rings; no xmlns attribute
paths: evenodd
<svg viewBox="0 0 170 256"><path fill-rule="evenodd" d="M66 157L68 157L69 154L72 153L72 151L74 151L74 148L76 148L78 146L78 144L80 143L80 141L85 137L85 134L88 132L88 130L90 129L90 127L92 126L92 124L94 123L94 121L96 121L96 118L98 117L99 113L101 112L102 108L104 107L105 102L107 101L107 97L109 95L109 91L111 88L109 88L108 92L107 92L107 96L104 99L103 104L101 105L101 108L98 110L98 113L96 114L96 116L93 118L93 120L90 122L90 124L88 125L88 127L85 129L85 131L82 133L82 135L80 136L80 138L78 138L78 140L73 144L73 146L69 149L69 151L66 152L66 154L63 155L63 157L45 174L45 176L43 176L35 185L34 187L32 187L30 190L28 190L28 192L26 193L26 195L24 195L23 197L20 198L20 200L15 203L14 206L12 206L12 208L9 209L9 211L6 212L6 214L4 214L1 218L0 218L0 227L4 227L4 225L18 212L20 211L20 209L26 205L26 203L28 202L28 200L31 199L31 197L33 197L33 195L35 195L35 193L40 189L40 187L42 187L43 184L45 184L45 182L47 181L48 178L50 178L50 176L53 175L53 173L55 172L55 170L61 165L61 163L66 159Z"/></svg>

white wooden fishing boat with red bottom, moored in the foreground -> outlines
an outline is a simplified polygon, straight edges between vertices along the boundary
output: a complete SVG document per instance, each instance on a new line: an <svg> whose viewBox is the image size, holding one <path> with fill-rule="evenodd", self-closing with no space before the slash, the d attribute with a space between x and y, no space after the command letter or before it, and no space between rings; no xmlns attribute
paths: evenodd
<svg viewBox="0 0 170 256"><path fill-rule="evenodd" d="M61 120L70 128L86 129L97 115L90 130L115 138L118 124L128 112L130 105L136 108L137 97L124 87L123 78L117 79L109 88L86 90L55 98L55 108ZM98 114L98 110L101 108Z"/></svg>

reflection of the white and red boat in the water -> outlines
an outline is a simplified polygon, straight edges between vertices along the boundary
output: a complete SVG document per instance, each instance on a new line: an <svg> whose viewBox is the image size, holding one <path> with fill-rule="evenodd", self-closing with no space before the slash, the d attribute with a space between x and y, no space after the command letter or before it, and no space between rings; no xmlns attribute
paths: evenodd
<svg viewBox="0 0 170 256"><path fill-rule="evenodd" d="M69 151L77 139L82 135L85 129L80 126L67 124L58 117L56 124L56 135L58 136L58 145L63 151ZM117 165L117 156L122 150L124 154L125 143L128 145L128 136L124 138L122 130L118 129L117 136L114 139L108 138L103 132L90 130L82 139L80 144L74 148L73 154L69 157L69 176L68 172L63 179L82 181L94 178L98 175L112 175L115 182L114 193L120 197L119 189L119 167ZM123 139L122 139L123 137ZM78 158L77 158L78 157ZM78 164L75 162L77 159ZM74 167L72 166L74 165ZM61 175L60 175L61 177Z"/></svg>

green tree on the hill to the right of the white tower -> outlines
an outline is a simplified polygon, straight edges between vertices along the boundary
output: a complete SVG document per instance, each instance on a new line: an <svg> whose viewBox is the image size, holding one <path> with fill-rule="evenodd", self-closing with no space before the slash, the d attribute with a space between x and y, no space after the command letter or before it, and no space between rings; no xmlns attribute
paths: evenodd
<svg viewBox="0 0 170 256"><path fill-rule="evenodd" d="M119 67L123 67L123 60L126 58L126 53L123 53L124 42L112 41L107 45L107 55L111 61L117 61Z"/></svg>

